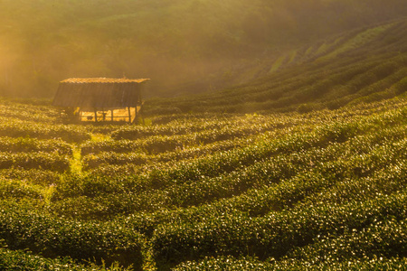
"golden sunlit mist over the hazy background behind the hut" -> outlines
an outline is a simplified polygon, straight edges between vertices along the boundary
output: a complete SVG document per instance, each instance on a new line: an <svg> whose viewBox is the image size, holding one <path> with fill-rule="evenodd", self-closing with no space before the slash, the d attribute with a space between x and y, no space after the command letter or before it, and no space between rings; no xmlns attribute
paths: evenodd
<svg viewBox="0 0 407 271"><path fill-rule="evenodd" d="M150 78L147 96L222 89L256 61L406 14L404 0L3 0L0 95L52 98L71 77Z"/></svg>

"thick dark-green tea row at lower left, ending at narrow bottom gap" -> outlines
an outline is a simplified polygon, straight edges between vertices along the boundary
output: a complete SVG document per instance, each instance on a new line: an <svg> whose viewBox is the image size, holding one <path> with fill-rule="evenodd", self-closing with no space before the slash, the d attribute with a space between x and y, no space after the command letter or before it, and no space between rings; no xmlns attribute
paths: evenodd
<svg viewBox="0 0 407 271"><path fill-rule="evenodd" d="M114 223L81 222L51 217L45 213L3 201L0 208L0 238L10 249L29 248L43 257L72 257L82 261L119 261L141 270L145 238Z"/></svg>

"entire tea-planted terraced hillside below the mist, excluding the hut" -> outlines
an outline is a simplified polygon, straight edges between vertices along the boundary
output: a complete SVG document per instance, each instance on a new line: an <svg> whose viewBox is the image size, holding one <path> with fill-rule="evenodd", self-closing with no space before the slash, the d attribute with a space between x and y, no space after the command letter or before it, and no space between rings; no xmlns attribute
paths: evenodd
<svg viewBox="0 0 407 271"><path fill-rule="evenodd" d="M0 269L402 269L405 26L150 101L146 126L0 100Z"/></svg>

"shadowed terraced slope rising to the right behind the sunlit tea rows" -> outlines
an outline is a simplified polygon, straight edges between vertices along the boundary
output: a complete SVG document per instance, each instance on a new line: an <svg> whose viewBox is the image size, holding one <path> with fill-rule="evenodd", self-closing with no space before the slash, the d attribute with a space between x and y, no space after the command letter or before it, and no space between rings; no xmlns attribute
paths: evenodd
<svg viewBox="0 0 407 271"><path fill-rule="evenodd" d="M308 112L393 98L407 86L406 37L406 20L344 33L236 71L250 83L150 101L147 113Z"/></svg>

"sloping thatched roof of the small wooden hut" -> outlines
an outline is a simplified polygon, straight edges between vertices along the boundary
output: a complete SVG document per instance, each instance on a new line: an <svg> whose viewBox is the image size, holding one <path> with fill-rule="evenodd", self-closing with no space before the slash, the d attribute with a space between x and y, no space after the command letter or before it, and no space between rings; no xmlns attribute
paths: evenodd
<svg viewBox="0 0 407 271"><path fill-rule="evenodd" d="M53 99L57 107L122 108L141 102L141 86L148 79L72 78L60 82Z"/></svg>

